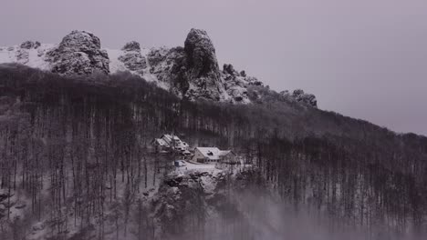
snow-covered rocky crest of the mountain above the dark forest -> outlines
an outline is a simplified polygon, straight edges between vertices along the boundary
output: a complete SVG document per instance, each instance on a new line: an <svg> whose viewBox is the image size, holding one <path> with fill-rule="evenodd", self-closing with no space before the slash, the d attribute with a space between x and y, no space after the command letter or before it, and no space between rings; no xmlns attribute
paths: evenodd
<svg viewBox="0 0 427 240"><path fill-rule="evenodd" d="M59 75L115 74L122 71L139 75L186 99L251 103L248 87L264 85L245 71L224 65L220 70L215 48L203 30L192 29L184 46L141 48L131 41L120 50L102 48L99 37L86 31L72 31L58 45L26 41L0 47L0 64L18 63ZM316 96L296 90L283 92L289 99L317 107Z"/></svg>

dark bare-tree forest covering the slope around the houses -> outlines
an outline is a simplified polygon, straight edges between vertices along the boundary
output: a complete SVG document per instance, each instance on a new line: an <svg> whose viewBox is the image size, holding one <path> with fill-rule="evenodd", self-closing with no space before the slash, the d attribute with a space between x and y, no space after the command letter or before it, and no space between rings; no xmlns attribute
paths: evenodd
<svg viewBox="0 0 427 240"><path fill-rule="evenodd" d="M159 171L149 149L154 137L176 133L243 155L280 204L327 216L331 232L425 239L427 137L290 102L265 86L249 95L258 100L191 102L129 73L63 77L0 65L0 238L26 239L19 229L48 219L52 239L86 239L66 237L70 222L97 239L106 223L120 228L114 239L153 239L139 196L168 166ZM11 215L16 195L30 199L24 217Z"/></svg>

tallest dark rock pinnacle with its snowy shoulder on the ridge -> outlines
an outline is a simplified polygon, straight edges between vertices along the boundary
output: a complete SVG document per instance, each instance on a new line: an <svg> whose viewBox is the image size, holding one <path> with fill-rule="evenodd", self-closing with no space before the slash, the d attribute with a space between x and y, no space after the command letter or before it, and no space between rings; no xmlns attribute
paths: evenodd
<svg viewBox="0 0 427 240"><path fill-rule="evenodd" d="M148 55L151 74L189 99L227 100L215 49L203 30L192 29L184 47L153 49Z"/></svg>

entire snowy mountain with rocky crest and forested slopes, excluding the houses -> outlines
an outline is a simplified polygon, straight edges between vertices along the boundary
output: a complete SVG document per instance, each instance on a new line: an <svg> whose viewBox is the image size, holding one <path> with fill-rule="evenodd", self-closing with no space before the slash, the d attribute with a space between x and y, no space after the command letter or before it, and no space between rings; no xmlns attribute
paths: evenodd
<svg viewBox="0 0 427 240"><path fill-rule="evenodd" d="M427 137L218 70L202 30L0 53L0 239L426 239ZM166 134L238 161L176 166Z"/></svg>

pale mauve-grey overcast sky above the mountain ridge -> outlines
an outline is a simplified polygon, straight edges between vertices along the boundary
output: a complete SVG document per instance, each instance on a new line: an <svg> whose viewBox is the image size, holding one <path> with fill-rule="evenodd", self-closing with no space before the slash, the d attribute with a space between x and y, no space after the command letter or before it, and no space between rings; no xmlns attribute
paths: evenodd
<svg viewBox="0 0 427 240"><path fill-rule="evenodd" d="M59 43L88 30L102 47L183 45L207 31L220 65L321 109L427 135L425 0L1 0L0 45Z"/></svg>

